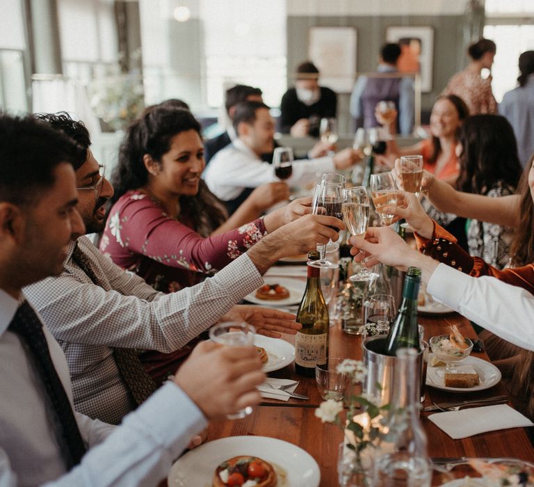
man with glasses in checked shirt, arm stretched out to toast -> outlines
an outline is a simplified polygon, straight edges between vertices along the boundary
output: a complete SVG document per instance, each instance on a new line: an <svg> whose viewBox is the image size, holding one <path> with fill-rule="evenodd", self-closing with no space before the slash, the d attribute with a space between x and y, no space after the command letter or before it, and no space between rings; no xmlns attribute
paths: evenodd
<svg viewBox="0 0 534 487"><path fill-rule="evenodd" d="M87 232L101 231L113 187L99 173L87 129L66 114L40 118L86 150L86 161L76 168L76 209ZM296 333L300 325L293 314L234 305L263 284L261 275L281 257L337 239L337 232L325 225L342 227L337 218L304 216L266 235L213 278L172 294L156 292L113 264L87 237L79 237L68 248L61 276L25 290L67 356L76 410L120 422L156 388L135 349L182 349L230 310L234 319L249 321L266 335Z"/></svg>

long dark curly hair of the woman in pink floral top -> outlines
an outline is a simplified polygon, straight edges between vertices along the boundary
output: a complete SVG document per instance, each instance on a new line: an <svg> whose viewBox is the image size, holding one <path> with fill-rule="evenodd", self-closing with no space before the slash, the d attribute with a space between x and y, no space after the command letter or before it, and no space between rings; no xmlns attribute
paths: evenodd
<svg viewBox="0 0 534 487"><path fill-rule="evenodd" d="M120 145L119 163L111 177L115 189L112 204L127 191L147 184L145 154L161 162L163 154L170 150L172 138L188 130L201 136L200 124L191 112L169 106L156 106L132 122ZM222 203L209 191L204 179L200 179L196 195L180 196L179 206L180 217L203 237L209 236L227 219Z"/></svg>

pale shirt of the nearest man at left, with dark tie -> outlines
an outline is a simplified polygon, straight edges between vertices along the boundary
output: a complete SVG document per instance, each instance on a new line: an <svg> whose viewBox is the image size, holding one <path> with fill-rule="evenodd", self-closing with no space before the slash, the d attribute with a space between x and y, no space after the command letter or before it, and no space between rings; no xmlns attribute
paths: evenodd
<svg viewBox="0 0 534 487"><path fill-rule="evenodd" d="M19 301L0 289L0 486L49 482L47 486L129 487L155 485L165 477L191 436L207 425L201 411L174 383L156 391L120 427L75 413L90 450L80 465L65 472L46 392L19 337L8 331L18 306ZM72 402L63 351L46 326L43 331Z"/></svg>

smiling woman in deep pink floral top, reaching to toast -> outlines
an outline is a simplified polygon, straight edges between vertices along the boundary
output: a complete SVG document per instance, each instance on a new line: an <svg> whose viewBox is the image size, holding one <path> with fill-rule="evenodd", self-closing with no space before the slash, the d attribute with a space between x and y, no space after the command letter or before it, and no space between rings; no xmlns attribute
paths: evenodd
<svg viewBox="0 0 534 487"><path fill-rule="evenodd" d="M173 292L222 269L286 223L286 209L246 225L243 214L228 219L200 179L202 170L193 115L162 106L147 111L122 143L100 249L159 291Z"/></svg>

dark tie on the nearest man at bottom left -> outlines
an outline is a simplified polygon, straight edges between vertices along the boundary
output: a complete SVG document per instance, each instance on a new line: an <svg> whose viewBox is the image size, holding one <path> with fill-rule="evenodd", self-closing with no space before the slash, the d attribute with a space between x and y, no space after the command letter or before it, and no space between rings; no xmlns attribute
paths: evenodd
<svg viewBox="0 0 534 487"><path fill-rule="evenodd" d="M19 336L44 385L54 411L58 443L67 469L70 470L80 463L81 457L86 453L86 447L83 445L78 424L74 419L72 406L50 357L42 323L27 301L19 306L8 330Z"/></svg>

